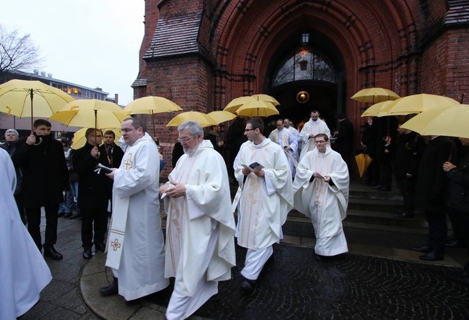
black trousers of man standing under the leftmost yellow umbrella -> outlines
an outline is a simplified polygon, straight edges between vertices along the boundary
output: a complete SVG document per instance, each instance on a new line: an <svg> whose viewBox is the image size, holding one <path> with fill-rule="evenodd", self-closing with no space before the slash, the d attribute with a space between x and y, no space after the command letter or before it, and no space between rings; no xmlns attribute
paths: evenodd
<svg viewBox="0 0 469 320"><path fill-rule="evenodd" d="M59 211L59 204L44 207L46 211L46 234L44 245L41 242L41 207L25 208L27 216L27 230L31 235L34 243L41 251L42 247L48 248L57 242L57 213Z"/></svg>

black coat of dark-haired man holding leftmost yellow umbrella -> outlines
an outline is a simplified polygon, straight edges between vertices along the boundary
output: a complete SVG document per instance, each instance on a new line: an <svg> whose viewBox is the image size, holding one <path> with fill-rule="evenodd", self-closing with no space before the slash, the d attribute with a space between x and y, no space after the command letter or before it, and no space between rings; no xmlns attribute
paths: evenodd
<svg viewBox="0 0 469 320"><path fill-rule="evenodd" d="M51 135L42 139L38 146L29 146L26 139L19 141L12 156L15 167L22 172L21 194L25 208L60 204L62 191L70 189L62 144Z"/></svg>

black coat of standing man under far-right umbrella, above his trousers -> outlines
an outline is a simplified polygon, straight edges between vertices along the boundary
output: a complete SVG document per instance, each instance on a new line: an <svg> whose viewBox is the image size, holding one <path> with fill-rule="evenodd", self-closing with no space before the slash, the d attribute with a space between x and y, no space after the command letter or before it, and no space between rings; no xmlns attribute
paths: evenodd
<svg viewBox="0 0 469 320"><path fill-rule="evenodd" d="M444 211L448 179L443 171L443 163L454 152L454 142L448 137L436 137L428 141L419 165L415 200L416 207L426 211Z"/></svg>

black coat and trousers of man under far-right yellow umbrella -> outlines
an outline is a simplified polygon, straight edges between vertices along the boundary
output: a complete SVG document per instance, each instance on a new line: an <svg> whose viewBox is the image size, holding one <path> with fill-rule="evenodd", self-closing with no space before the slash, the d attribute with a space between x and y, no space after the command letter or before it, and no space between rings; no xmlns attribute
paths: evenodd
<svg viewBox="0 0 469 320"><path fill-rule="evenodd" d="M443 163L455 150L454 142L448 137L435 137L428 141L419 165L415 204L425 211L428 221L427 245L437 253L444 253L447 237L448 180L443 171Z"/></svg>

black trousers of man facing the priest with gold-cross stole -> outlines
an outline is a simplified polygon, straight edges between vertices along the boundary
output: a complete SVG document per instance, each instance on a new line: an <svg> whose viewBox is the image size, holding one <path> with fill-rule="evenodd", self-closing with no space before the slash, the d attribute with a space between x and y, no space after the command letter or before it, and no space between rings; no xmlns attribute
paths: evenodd
<svg viewBox="0 0 469 320"><path fill-rule="evenodd" d="M91 249L94 244L104 242L107 231L107 206L100 208L80 208L81 211L81 245ZM95 237L93 239L93 225Z"/></svg>

